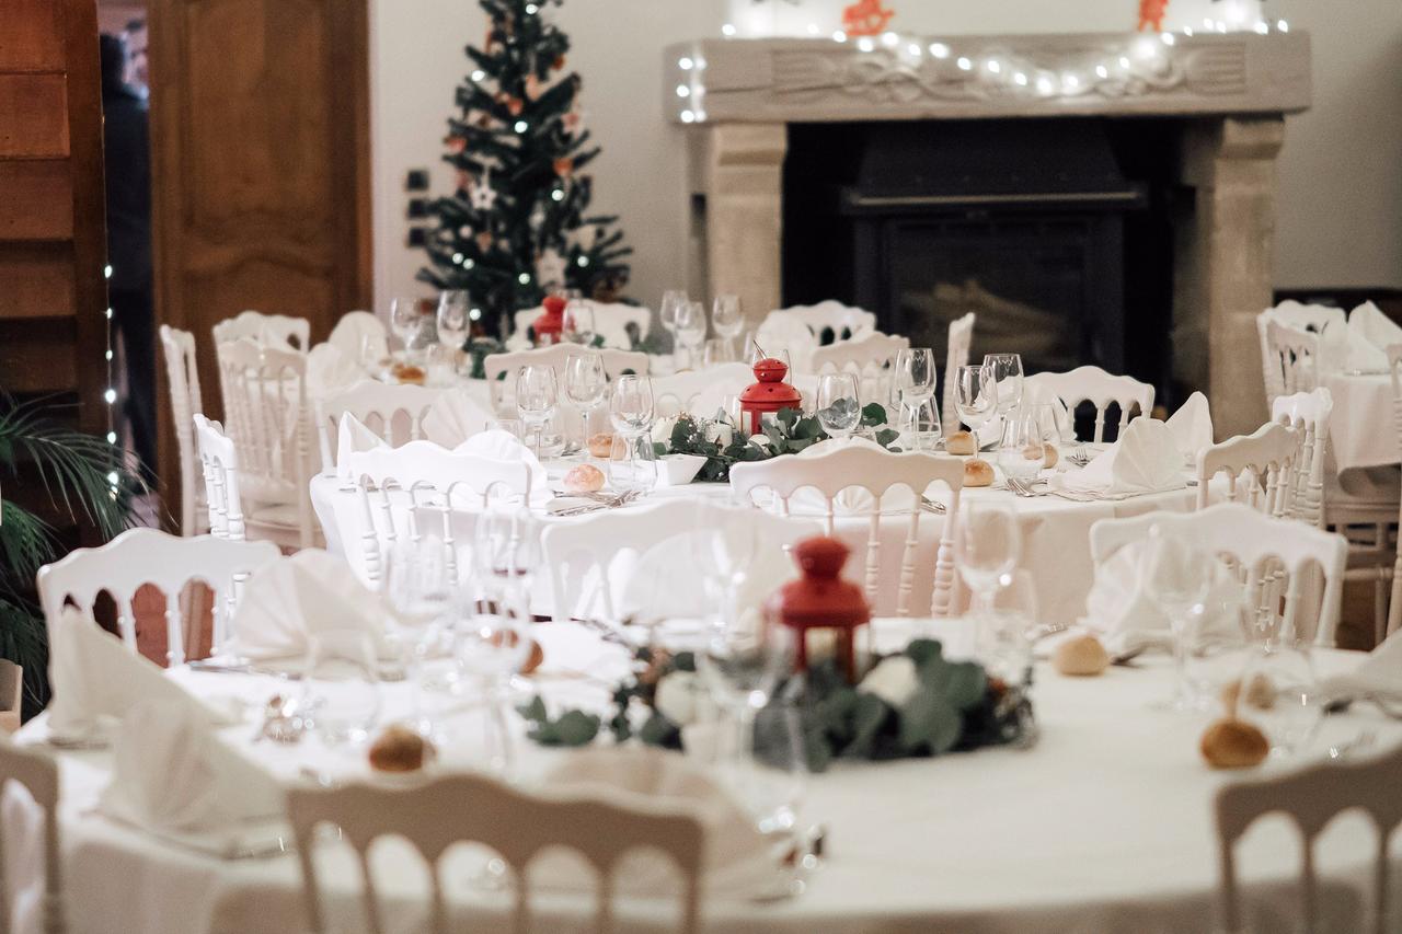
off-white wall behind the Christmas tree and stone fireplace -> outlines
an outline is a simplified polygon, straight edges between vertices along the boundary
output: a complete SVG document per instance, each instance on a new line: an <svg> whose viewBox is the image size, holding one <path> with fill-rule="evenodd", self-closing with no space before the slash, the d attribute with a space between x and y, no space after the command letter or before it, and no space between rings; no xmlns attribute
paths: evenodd
<svg viewBox="0 0 1402 934"><path fill-rule="evenodd" d="M774 0L770 0L771 3ZM1253 0L1237 0L1253 4ZM637 250L629 295L656 304L684 282L683 130L662 115L662 48L719 35L732 4L751 0L566 0L561 27L573 43L569 69L585 79L586 125L603 154L594 163L594 208L622 215ZM836 15L837 0L808 0ZM1129 29L1133 0L892 1L893 28L930 35ZM1209 0L1175 0L1172 15ZM1315 107L1288 122L1280 163L1277 285L1402 286L1402 3L1398 0L1267 0L1314 41ZM1225 15L1225 14L1223 14ZM481 10L468 0L372 0L376 302L414 282L423 255L405 244L404 172L429 167L435 191L453 91L467 70L463 46L479 45Z"/></svg>

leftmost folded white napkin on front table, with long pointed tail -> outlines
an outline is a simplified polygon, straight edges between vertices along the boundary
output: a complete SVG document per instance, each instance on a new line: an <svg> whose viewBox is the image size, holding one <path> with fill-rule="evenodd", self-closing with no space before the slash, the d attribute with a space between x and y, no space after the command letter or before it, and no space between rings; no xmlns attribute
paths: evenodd
<svg viewBox="0 0 1402 934"><path fill-rule="evenodd" d="M224 719L76 607L59 614L49 639L48 726L55 738L104 739L143 700L189 707L210 724Z"/></svg>

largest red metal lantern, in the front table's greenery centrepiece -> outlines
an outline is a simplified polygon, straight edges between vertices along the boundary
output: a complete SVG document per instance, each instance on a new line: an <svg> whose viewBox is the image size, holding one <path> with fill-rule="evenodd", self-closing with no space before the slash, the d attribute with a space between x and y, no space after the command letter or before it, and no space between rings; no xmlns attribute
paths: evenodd
<svg viewBox="0 0 1402 934"><path fill-rule="evenodd" d="M794 670L808 669L809 632L829 630L837 665L850 684L858 682L857 628L866 625L871 607L862 589L841 578L848 547L823 536L805 539L794 546L794 555L803 576L780 588L768 602L768 617L796 631L798 651Z"/></svg>

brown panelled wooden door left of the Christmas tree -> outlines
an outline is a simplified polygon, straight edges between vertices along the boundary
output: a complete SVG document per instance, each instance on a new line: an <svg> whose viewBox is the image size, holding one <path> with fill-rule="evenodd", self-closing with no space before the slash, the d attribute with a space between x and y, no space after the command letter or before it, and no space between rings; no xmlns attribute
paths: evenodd
<svg viewBox="0 0 1402 934"><path fill-rule="evenodd" d="M157 318L195 334L245 309L324 339L370 303L366 0L151 0ZM161 369L161 481L179 484Z"/></svg>

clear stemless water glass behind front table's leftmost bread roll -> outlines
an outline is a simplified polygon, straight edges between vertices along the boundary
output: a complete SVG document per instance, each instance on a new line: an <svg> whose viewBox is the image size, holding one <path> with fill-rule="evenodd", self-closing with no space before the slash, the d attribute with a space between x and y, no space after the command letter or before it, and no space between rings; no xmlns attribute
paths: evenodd
<svg viewBox="0 0 1402 934"><path fill-rule="evenodd" d="M328 746L362 743L380 719L374 641L365 630L327 630L307 638L301 711Z"/></svg>

